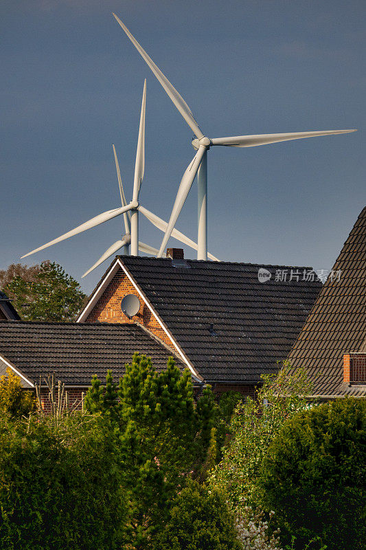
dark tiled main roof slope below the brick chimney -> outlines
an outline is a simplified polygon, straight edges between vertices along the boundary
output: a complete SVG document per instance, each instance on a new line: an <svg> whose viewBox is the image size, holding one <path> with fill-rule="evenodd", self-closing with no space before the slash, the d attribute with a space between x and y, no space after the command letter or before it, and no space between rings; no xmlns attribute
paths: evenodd
<svg viewBox="0 0 366 550"><path fill-rule="evenodd" d="M255 384L277 370L321 288L310 267L117 256L206 382ZM271 279L258 281L264 268ZM300 272L276 281L276 272Z"/></svg>

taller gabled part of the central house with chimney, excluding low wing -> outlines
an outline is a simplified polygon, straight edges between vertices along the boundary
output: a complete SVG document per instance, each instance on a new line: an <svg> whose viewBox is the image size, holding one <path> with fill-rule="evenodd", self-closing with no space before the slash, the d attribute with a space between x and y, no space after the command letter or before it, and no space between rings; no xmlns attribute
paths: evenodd
<svg viewBox="0 0 366 550"><path fill-rule="evenodd" d="M216 394L254 395L262 373L277 371L321 289L310 267L117 256L78 322L143 326L176 353L194 384ZM126 295L137 313L122 311Z"/></svg>

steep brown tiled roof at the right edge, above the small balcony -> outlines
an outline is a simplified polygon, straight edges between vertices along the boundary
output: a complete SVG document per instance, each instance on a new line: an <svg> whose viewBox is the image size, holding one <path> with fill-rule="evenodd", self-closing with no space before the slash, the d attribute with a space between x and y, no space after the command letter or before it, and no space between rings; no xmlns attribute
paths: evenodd
<svg viewBox="0 0 366 550"><path fill-rule="evenodd" d="M343 383L343 355L366 351L366 207L336 259L290 352L294 368L304 366L314 395L366 395L366 386Z"/></svg>

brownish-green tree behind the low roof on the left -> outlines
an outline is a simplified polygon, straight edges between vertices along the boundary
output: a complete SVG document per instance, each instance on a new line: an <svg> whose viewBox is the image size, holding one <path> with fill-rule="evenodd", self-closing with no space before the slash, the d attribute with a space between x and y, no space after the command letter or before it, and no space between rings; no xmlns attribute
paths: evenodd
<svg viewBox="0 0 366 550"><path fill-rule="evenodd" d="M23 320L62 322L75 318L85 298L76 279L54 262L24 266L23 270L19 265L0 272L0 281Z"/></svg>

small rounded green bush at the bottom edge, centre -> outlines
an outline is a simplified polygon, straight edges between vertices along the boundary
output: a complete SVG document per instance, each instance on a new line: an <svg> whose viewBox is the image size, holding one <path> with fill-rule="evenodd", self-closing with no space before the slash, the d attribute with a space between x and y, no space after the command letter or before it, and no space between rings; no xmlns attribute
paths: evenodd
<svg viewBox="0 0 366 550"><path fill-rule="evenodd" d="M154 550L240 549L233 515L218 489L190 481L174 499Z"/></svg>

